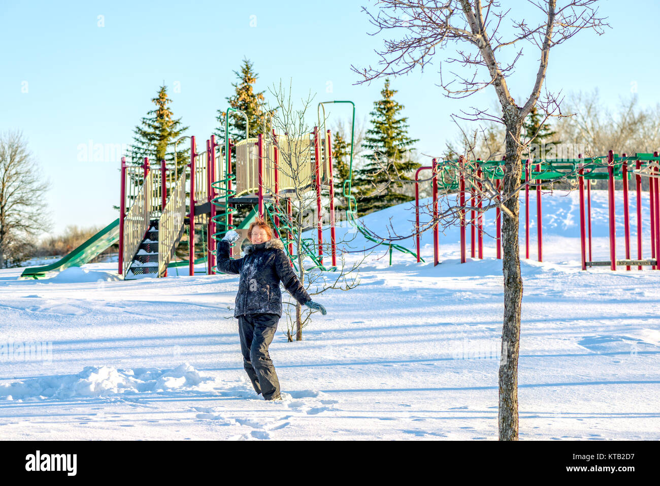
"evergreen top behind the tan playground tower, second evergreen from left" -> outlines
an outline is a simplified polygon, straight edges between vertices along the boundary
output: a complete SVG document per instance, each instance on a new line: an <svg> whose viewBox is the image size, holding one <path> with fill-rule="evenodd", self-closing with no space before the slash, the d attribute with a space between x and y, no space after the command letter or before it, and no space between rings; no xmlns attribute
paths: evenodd
<svg viewBox="0 0 660 486"><path fill-rule="evenodd" d="M238 82L232 83L235 94L226 98L229 106L241 110L248 116L249 120L249 137L256 137L261 133L265 124L269 123L272 113L264 109L265 98L263 93L265 91L255 92L254 85L257 83L259 76L254 72L253 63L249 59L243 59L243 65L240 72L234 71L238 78ZM218 143L224 143L224 123L226 110L218 110L217 120L220 126L216 129L216 136L219 138ZM243 140L246 136L246 119L242 114L229 114L229 138L234 140Z"/></svg>

